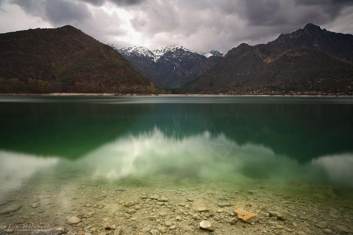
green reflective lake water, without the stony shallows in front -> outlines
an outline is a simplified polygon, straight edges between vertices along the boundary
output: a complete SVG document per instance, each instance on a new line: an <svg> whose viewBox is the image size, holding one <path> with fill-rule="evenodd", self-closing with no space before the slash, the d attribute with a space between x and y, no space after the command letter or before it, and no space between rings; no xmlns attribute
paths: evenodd
<svg viewBox="0 0 353 235"><path fill-rule="evenodd" d="M0 120L1 200L67 185L353 188L352 98L0 97Z"/></svg>

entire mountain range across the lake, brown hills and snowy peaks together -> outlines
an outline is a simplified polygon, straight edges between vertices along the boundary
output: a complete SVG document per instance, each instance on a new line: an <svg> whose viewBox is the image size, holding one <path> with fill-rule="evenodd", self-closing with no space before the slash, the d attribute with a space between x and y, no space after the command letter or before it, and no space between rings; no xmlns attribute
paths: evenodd
<svg viewBox="0 0 353 235"><path fill-rule="evenodd" d="M0 92L352 95L352 48L353 35L312 23L227 54L117 48L70 25L38 28L0 34Z"/></svg>

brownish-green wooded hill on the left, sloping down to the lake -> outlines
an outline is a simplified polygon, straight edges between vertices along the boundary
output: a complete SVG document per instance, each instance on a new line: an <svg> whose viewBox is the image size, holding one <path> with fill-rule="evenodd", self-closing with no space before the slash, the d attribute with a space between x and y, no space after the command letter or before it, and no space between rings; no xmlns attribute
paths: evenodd
<svg viewBox="0 0 353 235"><path fill-rule="evenodd" d="M70 25L1 33L0 51L0 92L158 92L119 52Z"/></svg>

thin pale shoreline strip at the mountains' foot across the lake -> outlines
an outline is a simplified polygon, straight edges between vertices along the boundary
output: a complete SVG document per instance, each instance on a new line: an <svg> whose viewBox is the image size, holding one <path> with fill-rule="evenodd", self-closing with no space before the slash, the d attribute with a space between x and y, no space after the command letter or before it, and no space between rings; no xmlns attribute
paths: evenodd
<svg viewBox="0 0 353 235"><path fill-rule="evenodd" d="M211 94L122 94L122 93L0 93L0 96L254 96L254 97L353 97L353 95L211 95Z"/></svg>

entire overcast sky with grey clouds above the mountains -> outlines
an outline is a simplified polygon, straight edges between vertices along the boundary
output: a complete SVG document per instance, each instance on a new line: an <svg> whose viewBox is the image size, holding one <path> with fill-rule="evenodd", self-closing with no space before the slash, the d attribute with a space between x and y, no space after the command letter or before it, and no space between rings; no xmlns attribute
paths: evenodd
<svg viewBox="0 0 353 235"><path fill-rule="evenodd" d="M72 25L119 48L227 52L307 23L353 34L353 0L0 0L0 33Z"/></svg>

